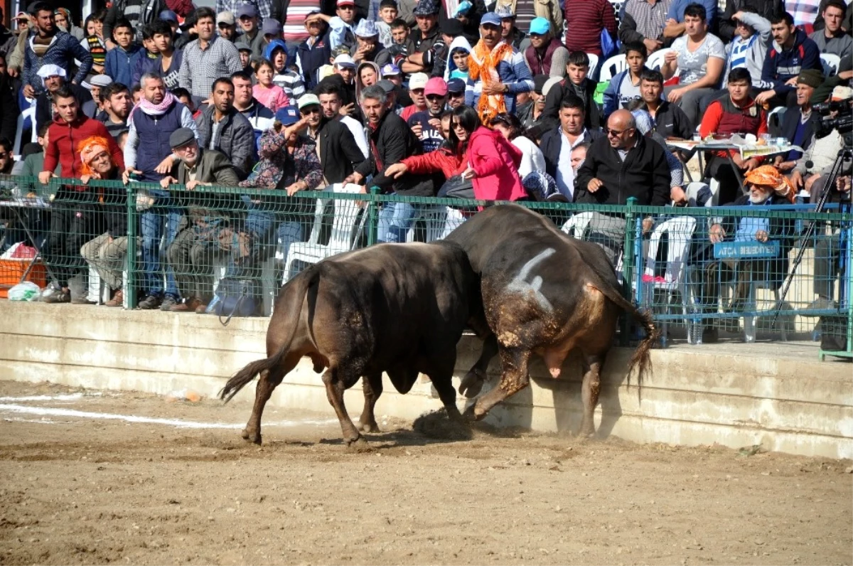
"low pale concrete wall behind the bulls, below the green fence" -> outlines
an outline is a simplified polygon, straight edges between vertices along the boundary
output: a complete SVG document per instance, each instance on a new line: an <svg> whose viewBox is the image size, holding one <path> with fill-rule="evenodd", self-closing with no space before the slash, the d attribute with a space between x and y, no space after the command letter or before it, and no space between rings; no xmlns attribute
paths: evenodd
<svg viewBox="0 0 853 566"><path fill-rule="evenodd" d="M157 394L193 388L208 396L243 365L265 356L268 323L235 318L223 328L207 315L9 301L0 301L0 320L0 379ZM457 376L473 364L479 341L463 338L459 354ZM761 444L771 451L853 458L853 365L818 362L812 345L727 342L655 350L653 375L641 397L635 379L630 386L625 382L629 356L630 350L614 348L607 360L596 411L601 435L680 445ZM491 384L497 370L495 361ZM496 407L490 422L577 431L577 360L566 362L559 380L539 361L531 375L532 387ZM251 400L253 394L250 386L240 397ZM333 414L307 360L285 377L270 402ZM351 414L360 413L359 386L347 393L346 403ZM377 415L410 419L440 406L428 382L405 396L386 382Z"/></svg>

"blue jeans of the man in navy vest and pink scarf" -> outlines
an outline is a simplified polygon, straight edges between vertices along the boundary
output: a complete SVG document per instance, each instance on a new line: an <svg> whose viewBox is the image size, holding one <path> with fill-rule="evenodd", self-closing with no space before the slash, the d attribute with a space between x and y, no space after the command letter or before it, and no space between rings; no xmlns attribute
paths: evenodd
<svg viewBox="0 0 853 566"><path fill-rule="evenodd" d="M165 227L163 249L169 249L171 242L175 241L182 218L183 212L179 208L148 209L142 213L142 289L148 295L164 295L160 239ZM176 301L181 298L175 282L175 271L171 267L166 267L165 271L165 295L171 295Z"/></svg>

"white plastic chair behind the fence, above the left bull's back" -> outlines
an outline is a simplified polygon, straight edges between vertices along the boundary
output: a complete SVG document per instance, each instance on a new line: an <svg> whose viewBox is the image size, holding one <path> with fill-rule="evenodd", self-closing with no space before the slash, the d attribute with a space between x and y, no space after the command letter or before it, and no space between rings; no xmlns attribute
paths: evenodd
<svg viewBox="0 0 853 566"><path fill-rule="evenodd" d="M357 184L334 184L332 190L336 193L356 194L361 192ZM328 238L328 244L321 244L320 231L322 229L323 211L329 199L317 199L314 213L314 225L311 226L308 242L295 242L290 244L287 250L287 258L284 261L284 275L281 284L287 283L291 267L294 261L315 264L331 255L350 251L357 243L357 228L363 226L367 214L359 216L362 208L359 202L350 199L330 199L334 206L334 219L332 219L332 230ZM361 222L359 222L361 218Z"/></svg>

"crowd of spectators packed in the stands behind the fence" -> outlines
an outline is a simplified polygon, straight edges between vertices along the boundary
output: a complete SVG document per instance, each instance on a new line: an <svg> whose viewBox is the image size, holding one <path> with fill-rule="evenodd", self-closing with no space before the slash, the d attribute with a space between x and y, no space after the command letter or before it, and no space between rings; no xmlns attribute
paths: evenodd
<svg viewBox="0 0 853 566"><path fill-rule="evenodd" d="M708 156L713 202L815 198L843 140L816 139L811 108L853 95L853 37L841 0L789 4L728 0L718 13L715 0L626 0L617 13L606 0L465 0L452 12L439 0L218 0L216 10L118 0L76 22L35 2L11 31L0 26L0 173L38 178L36 193L55 176L80 179L52 195L50 301L85 301L68 280L88 262L113 290L107 306L123 301L128 226L122 196L87 184L160 184L136 203L137 306L195 312L212 298L212 254L228 250L229 271L245 273L262 242L306 236L276 213L281 199L235 195L223 212L192 195L203 185L426 197L450 185L484 200L686 206L711 191L688 199L684 155L666 139L772 133L798 149ZM590 55L616 53L624 71L599 84ZM833 76L821 54L838 56ZM784 112L769 120L774 108ZM38 143L15 163L8 140L20 129ZM386 203L378 240L404 241L428 208ZM720 219L710 240L790 229ZM624 220L597 214L589 230L615 262ZM827 280L837 240L821 242ZM815 294L832 304L831 283L815 282Z"/></svg>

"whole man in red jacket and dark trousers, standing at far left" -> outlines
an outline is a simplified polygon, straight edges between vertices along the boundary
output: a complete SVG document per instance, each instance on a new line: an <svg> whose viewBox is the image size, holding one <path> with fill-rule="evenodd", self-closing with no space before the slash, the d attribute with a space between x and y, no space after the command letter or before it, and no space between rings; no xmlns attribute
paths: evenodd
<svg viewBox="0 0 853 566"><path fill-rule="evenodd" d="M53 171L57 161L61 164L62 177L80 178L84 171L78 146L92 136L107 140L107 150L117 166L119 175L125 170L125 159L119 144L115 143L105 125L78 111L77 99L67 85L61 86L53 93L53 108L55 117L48 129L49 143L44 150L44 171L38 173L41 183L48 184L50 178L55 176ZM96 232L101 225L102 216L98 196L97 190L82 183L62 186L56 192L51 205L48 241L42 252L59 290L45 298L45 302L87 302L85 262L80 248L98 235ZM72 289L69 287L69 280L73 277L80 283L79 287L74 289L75 296L72 296Z"/></svg>

